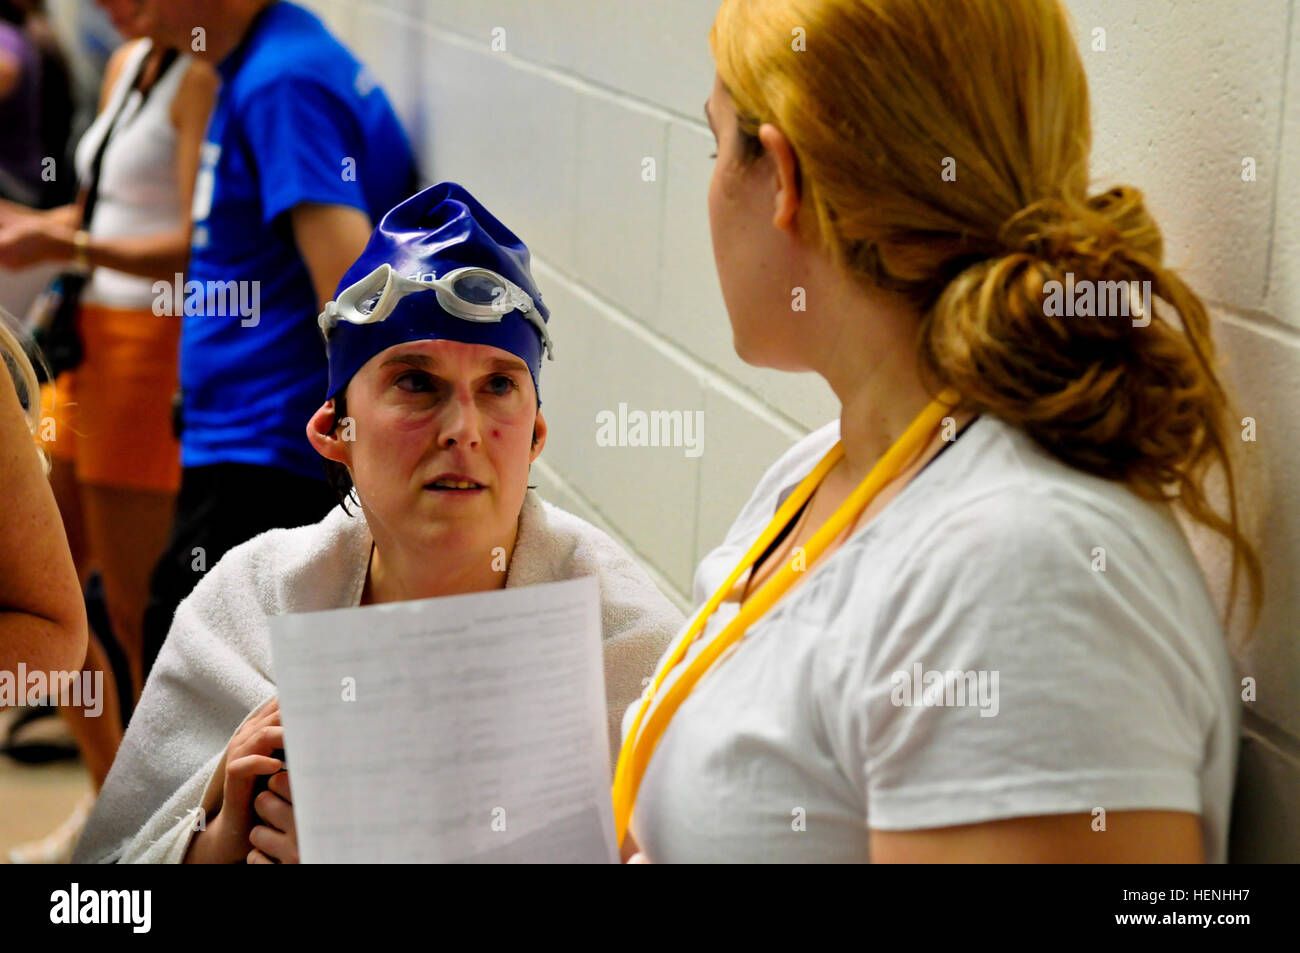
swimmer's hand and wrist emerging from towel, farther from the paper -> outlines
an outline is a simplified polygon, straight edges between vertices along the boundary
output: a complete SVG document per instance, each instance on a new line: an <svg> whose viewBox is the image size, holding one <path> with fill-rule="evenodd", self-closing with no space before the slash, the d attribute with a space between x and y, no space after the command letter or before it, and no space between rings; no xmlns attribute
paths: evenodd
<svg viewBox="0 0 1300 953"><path fill-rule="evenodd" d="M185 863L242 863L248 855L254 826L252 788L259 775L280 771L285 763L270 754L285 746L280 724L280 698L272 698L244 722L226 748L226 776L221 809L190 841ZM287 785L285 788L287 790Z"/></svg>

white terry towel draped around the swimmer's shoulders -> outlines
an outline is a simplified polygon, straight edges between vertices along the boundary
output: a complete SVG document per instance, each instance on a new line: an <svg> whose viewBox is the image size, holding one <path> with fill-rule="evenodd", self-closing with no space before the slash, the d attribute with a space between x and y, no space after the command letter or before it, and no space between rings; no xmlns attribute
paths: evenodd
<svg viewBox="0 0 1300 953"><path fill-rule="evenodd" d="M139 707L77 845L75 863L178 863L211 815L234 732L276 694L268 618L360 601L370 533L360 508L237 546L176 612ZM529 490L507 586L595 576L611 755L681 612L608 536ZM612 763L612 762L611 762Z"/></svg>

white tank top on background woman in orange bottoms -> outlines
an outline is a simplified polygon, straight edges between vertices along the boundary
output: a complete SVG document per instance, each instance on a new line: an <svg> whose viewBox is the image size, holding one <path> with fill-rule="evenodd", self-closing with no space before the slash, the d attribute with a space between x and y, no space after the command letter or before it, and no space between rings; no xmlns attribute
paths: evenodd
<svg viewBox="0 0 1300 953"><path fill-rule="evenodd" d="M107 108L77 143L77 177L84 185L109 124L130 96L126 108L121 109L100 166L99 199L90 225L95 238L150 235L187 221L188 211L181 199L176 168L177 131L172 124L172 100L190 69L190 57L182 55L172 64L142 108L144 98L139 90L130 87L151 48L150 40L142 40L131 51L113 85ZM153 307L152 289L152 278L96 268L82 300L147 311Z"/></svg>

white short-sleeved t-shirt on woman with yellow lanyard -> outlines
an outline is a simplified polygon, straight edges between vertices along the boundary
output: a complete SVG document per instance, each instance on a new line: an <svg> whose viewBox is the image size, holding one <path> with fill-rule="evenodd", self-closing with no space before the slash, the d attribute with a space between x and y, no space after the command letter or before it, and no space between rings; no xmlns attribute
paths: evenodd
<svg viewBox="0 0 1300 953"><path fill-rule="evenodd" d="M836 439L838 423L767 472L697 605ZM1169 511L984 415L705 673L632 831L654 862L840 862L870 859L868 828L1178 810L1225 862L1239 716Z"/></svg>

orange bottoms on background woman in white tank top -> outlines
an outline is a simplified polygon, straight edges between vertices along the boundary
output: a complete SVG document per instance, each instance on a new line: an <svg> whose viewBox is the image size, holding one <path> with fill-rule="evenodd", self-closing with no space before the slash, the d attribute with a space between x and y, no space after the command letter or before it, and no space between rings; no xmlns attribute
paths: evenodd
<svg viewBox="0 0 1300 953"><path fill-rule="evenodd" d="M179 319L83 304L77 326L84 359L40 389L40 442L83 484L176 493Z"/></svg>

